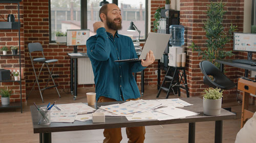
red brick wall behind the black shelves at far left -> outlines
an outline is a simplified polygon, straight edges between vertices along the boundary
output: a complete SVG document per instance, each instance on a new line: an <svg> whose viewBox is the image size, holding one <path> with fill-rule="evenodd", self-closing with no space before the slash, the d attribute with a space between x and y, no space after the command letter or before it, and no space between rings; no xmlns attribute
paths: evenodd
<svg viewBox="0 0 256 143"><path fill-rule="evenodd" d="M24 18L23 18L23 3L20 3L20 53L21 53L21 65L24 65ZM15 21L18 21L18 5L17 4L0 4L0 21L6 21L8 14L13 14ZM11 46L18 46L18 30L0 30L0 47L7 46L9 49ZM1 55L3 52L1 51ZM11 50L7 54L12 54ZM0 56L0 68L17 68L19 70L19 56ZM12 80L13 77L12 77ZM20 101L20 87L18 82L1 82L1 89L7 87L9 90L12 89L12 95L10 97L10 102ZM22 79L22 100L26 101L26 87L25 80Z"/></svg>

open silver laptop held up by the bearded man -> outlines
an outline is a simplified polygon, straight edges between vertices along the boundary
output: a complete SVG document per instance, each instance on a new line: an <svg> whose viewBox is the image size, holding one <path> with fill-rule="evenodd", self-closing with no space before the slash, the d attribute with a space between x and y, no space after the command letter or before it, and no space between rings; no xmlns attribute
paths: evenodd
<svg viewBox="0 0 256 143"><path fill-rule="evenodd" d="M163 52L167 47L168 41L170 39L170 34L162 33L150 33L147 36L146 42L140 54L140 58L126 59L126 60L116 60L115 62L135 62L146 59L146 54L152 50L156 60L159 60L163 56Z"/></svg>

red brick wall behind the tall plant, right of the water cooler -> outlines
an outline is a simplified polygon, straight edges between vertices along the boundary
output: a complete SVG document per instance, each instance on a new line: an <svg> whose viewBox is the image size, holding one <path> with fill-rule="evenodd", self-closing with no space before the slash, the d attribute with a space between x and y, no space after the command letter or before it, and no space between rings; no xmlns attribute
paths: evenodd
<svg viewBox="0 0 256 143"><path fill-rule="evenodd" d="M201 57L198 56L197 52L193 52L191 49L187 49L187 47L193 41L197 45L205 48L205 32L203 30L203 20L205 20L206 13L204 11L207 10L207 4L209 1L199 0L199 1L180 1L180 22L185 26L185 47L187 50L187 59L186 59L186 69L187 69L187 79L188 79L188 88L190 96L199 96L201 92L207 87L202 82L203 74L200 71L199 63L201 61ZM215 1L217 2L217 1ZM218 1L220 2L220 1ZM223 1L226 3L225 10L227 11L224 16L223 25L225 27L229 27L230 23L234 25L238 25L238 31L242 32L243 29L243 7L244 1L236 1L236 0L227 0ZM226 50L232 50L232 41L226 45ZM235 54L241 54L238 52L234 52ZM238 55L233 58L238 58ZM242 75L243 70L237 69L230 66L225 66L225 75L229 77L234 82L237 82L238 76ZM225 91L224 94L234 95L237 90L228 90ZM225 98L225 97L224 97ZM226 97L230 98L230 97Z"/></svg>

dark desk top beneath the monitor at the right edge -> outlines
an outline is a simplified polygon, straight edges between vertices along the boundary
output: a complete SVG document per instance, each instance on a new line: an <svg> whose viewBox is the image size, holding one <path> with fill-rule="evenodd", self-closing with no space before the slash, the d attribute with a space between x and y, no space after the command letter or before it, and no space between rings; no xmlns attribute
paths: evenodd
<svg viewBox="0 0 256 143"><path fill-rule="evenodd" d="M251 71L256 71L256 66L236 63L236 62L232 62L232 61L233 60L216 60L216 62L224 64L224 65L228 65L228 66L232 66L232 67L237 67L237 68L241 68L241 69L246 69L246 70L251 70Z"/></svg>

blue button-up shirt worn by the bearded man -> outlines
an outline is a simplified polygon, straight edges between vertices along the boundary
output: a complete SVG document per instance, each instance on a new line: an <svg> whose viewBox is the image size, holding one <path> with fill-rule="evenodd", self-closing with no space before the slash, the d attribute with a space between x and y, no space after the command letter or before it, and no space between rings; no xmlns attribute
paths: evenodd
<svg viewBox="0 0 256 143"><path fill-rule="evenodd" d="M117 32L113 37L105 28L98 28L97 34L87 40L87 53L94 72L96 100L100 96L117 101L140 97L133 73L142 71L145 67L141 62L114 62L138 58L130 37Z"/></svg>

